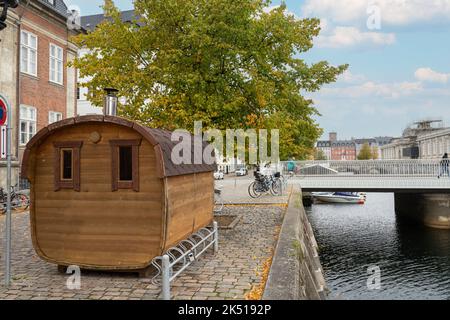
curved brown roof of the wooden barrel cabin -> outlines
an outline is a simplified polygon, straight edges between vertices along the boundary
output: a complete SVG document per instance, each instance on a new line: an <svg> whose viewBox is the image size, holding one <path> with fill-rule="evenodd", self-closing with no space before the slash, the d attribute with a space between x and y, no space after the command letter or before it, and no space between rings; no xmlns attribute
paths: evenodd
<svg viewBox="0 0 450 320"><path fill-rule="evenodd" d="M172 162L171 154L172 149L177 145L178 142L172 142L171 140L171 132L162 129L152 129L145 127L137 122L130 121L120 117L114 116L102 116L102 115L89 115L89 116L80 116L75 118L64 119L62 121L53 123L42 130L40 130L27 144L23 159L22 159L22 168L21 168L21 177L28 178L28 161L30 157L30 153L34 148L39 146L41 143L45 141L45 139L52 135L53 133L63 130L64 128L71 127L77 124L82 123L111 123L116 125L121 125L124 127L132 128L133 130L140 133L151 145L153 145L156 158L158 161L159 173L158 175L161 178L164 177L173 177L173 176L181 176L193 173L201 173L201 172L210 172L215 171L217 166L216 164L210 165L207 163L202 164L174 164ZM192 138L192 144L193 144ZM207 144L203 144L203 149L207 146ZM191 147L191 159L194 161L194 152L195 149L192 145ZM202 157L203 159L203 157ZM202 160L203 161L203 160Z"/></svg>

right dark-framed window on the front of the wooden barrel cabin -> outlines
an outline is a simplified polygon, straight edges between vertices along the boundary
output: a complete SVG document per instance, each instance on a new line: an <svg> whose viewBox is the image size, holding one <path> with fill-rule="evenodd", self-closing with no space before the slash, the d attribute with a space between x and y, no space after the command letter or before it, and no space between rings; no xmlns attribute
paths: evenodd
<svg viewBox="0 0 450 320"><path fill-rule="evenodd" d="M141 140L111 140L111 189L139 192L139 146Z"/></svg>

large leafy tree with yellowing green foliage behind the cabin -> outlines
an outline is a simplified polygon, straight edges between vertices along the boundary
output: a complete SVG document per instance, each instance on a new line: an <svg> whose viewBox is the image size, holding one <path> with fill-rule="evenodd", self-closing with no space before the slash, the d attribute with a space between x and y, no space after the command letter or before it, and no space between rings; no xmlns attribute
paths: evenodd
<svg viewBox="0 0 450 320"><path fill-rule="evenodd" d="M278 128L283 158L313 152L319 115L302 93L334 82L346 65L312 65L318 19L298 19L269 0L135 0L132 23L111 0L109 17L75 41L90 53L74 61L90 79L89 100L104 87L126 101L122 116L167 129ZM286 141L283 141L286 139ZM285 143L286 142L286 143Z"/></svg>

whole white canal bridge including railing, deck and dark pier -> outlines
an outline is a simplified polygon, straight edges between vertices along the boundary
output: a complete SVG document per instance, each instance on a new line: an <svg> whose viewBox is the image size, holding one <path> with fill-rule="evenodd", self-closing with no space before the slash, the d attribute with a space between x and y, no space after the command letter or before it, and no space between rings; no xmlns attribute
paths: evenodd
<svg viewBox="0 0 450 320"><path fill-rule="evenodd" d="M282 166L287 174L289 163ZM450 229L448 170L440 160L301 161L294 183L304 192L394 193L398 216Z"/></svg>

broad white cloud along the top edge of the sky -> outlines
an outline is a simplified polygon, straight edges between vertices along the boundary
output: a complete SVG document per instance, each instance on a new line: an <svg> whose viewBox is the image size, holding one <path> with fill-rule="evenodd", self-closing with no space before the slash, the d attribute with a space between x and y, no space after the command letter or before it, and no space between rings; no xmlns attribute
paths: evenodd
<svg viewBox="0 0 450 320"><path fill-rule="evenodd" d="M450 23L450 0L306 0L302 16L365 25L373 6L379 8L383 26Z"/></svg>

